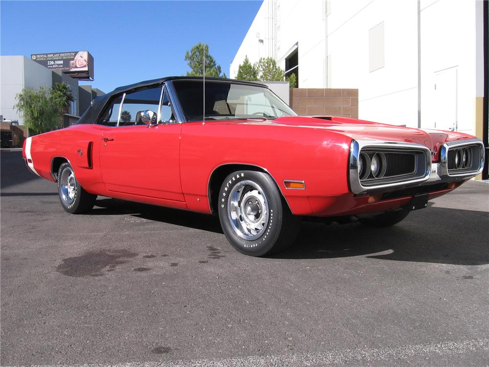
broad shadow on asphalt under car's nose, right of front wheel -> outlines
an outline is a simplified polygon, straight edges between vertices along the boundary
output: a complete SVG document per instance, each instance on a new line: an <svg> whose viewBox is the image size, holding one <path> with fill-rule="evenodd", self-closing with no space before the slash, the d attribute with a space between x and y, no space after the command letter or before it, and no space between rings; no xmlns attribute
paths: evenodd
<svg viewBox="0 0 489 367"><path fill-rule="evenodd" d="M304 222L289 250L273 257L366 256L440 264L489 264L488 223L487 212L440 207L412 212L404 221L388 228L371 228L360 223L325 226Z"/></svg>

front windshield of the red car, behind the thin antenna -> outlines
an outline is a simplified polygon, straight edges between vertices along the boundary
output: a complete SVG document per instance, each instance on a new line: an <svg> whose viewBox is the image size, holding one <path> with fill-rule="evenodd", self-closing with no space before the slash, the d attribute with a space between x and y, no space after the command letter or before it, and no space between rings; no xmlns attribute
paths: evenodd
<svg viewBox="0 0 489 367"><path fill-rule="evenodd" d="M202 81L176 80L173 85L187 121L202 121ZM206 119L274 119L282 116L296 116L296 114L284 101L265 87L229 82L205 82Z"/></svg>

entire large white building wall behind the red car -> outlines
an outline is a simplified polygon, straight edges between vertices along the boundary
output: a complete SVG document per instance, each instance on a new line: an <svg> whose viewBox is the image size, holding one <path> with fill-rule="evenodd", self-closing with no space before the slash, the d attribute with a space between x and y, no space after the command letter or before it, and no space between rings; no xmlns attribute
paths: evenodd
<svg viewBox="0 0 489 367"><path fill-rule="evenodd" d="M451 103L444 104L441 93L435 95L434 84L437 73L455 68L456 128L475 134L475 97L483 78L476 56L481 58L476 47L482 37L482 27L476 28L481 1L421 0L420 8L421 126L434 128L435 119L447 120ZM371 71L369 30L380 23L384 66ZM270 29L276 30L273 40ZM264 35L263 45L257 34ZM272 56L267 51L272 41L282 68L289 49L298 44L300 88L358 88L359 118L418 126L418 1L264 0L230 66L230 77L236 77L245 55L251 63Z"/></svg>

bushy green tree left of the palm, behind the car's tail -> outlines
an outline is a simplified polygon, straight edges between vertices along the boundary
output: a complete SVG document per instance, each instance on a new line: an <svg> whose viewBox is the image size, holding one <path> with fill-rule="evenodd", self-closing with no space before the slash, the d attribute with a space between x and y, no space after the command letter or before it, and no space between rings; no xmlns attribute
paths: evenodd
<svg viewBox="0 0 489 367"><path fill-rule="evenodd" d="M58 98L53 98L51 89L23 89L15 98L14 108L22 115L29 132L42 134L55 130L59 125L59 112L63 106Z"/></svg>

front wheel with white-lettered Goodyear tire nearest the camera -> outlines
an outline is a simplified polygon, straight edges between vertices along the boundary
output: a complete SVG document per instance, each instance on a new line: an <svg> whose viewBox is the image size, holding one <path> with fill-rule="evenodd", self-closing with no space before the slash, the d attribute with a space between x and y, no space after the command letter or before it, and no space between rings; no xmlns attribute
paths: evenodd
<svg viewBox="0 0 489 367"><path fill-rule="evenodd" d="M263 172L236 171L221 186L218 212L229 243L250 256L285 250L300 229L271 177Z"/></svg>

